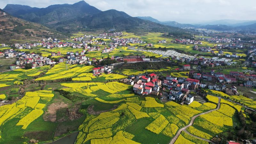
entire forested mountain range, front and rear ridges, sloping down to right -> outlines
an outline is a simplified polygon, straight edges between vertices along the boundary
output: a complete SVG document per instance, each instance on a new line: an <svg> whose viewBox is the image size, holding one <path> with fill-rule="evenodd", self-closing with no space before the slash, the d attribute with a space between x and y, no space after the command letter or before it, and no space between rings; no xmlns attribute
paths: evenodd
<svg viewBox="0 0 256 144"><path fill-rule="evenodd" d="M125 12L100 11L84 1L75 4L51 5L46 8L7 4L4 11L61 32L109 30L115 27L116 30L130 32L175 32L176 34L180 33L180 36L192 36L186 30L131 17Z"/></svg>

